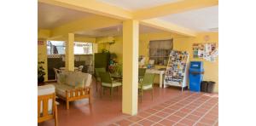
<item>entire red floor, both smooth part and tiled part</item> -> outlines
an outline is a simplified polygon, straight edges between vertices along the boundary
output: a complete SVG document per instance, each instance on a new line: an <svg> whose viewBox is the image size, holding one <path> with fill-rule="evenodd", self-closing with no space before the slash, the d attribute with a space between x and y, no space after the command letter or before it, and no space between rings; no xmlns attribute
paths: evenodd
<svg viewBox="0 0 256 126"><path fill-rule="evenodd" d="M150 91L143 93L138 102L137 116L122 114L121 88L114 90L113 100L109 91L100 98L93 82L92 104L88 100L70 103L69 110L63 100L58 100L60 126L90 125L218 125L218 94L193 93L180 89L154 87L154 100ZM54 120L38 123L38 126L54 125Z"/></svg>

